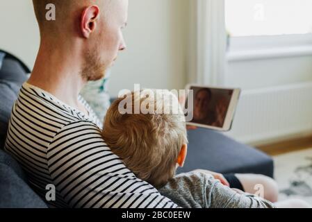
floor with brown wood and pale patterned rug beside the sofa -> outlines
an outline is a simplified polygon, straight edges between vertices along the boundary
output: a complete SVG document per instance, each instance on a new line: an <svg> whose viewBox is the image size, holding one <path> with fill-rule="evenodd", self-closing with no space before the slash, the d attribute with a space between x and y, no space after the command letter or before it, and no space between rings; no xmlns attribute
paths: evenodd
<svg viewBox="0 0 312 222"><path fill-rule="evenodd" d="M257 148L273 157L279 200L299 198L312 205L312 137Z"/></svg>

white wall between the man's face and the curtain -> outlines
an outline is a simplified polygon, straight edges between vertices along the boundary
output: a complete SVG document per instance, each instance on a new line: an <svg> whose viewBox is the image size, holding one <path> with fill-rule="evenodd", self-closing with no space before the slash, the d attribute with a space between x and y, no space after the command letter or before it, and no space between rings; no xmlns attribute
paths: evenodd
<svg viewBox="0 0 312 222"><path fill-rule="evenodd" d="M112 70L110 92L142 87L183 89L186 84L189 0L130 0L127 50Z"/></svg>

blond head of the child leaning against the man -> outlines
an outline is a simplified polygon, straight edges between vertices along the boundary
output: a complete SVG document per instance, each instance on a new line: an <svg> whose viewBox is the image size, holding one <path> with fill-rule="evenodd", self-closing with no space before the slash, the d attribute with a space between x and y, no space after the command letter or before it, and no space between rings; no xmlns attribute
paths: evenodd
<svg viewBox="0 0 312 222"><path fill-rule="evenodd" d="M102 135L138 178L161 187L174 176L176 164L183 167L188 143L186 122L174 94L149 89L146 95L132 92L126 99L117 99L107 112ZM140 112L132 114L136 105L140 105ZM121 114L125 106L133 112ZM143 114L142 108L149 113Z"/></svg>

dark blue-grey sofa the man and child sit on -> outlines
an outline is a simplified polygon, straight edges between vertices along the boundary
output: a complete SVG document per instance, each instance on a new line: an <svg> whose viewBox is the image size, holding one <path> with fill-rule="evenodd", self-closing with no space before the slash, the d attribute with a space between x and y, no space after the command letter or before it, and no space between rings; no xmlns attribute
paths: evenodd
<svg viewBox="0 0 312 222"><path fill-rule="evenodd" d="M1 51L0 51L1 53ZM1 56L0 56L1 58ZM10 112L28 69L6 54L0 61L0 147L3 147ZM180 172L209 169L220 173L261 173L273 176L272 158L212 130L188 132L190 140L185 167ZM22 168L0 148L0 208L47 207L28 186Z"/></svg>

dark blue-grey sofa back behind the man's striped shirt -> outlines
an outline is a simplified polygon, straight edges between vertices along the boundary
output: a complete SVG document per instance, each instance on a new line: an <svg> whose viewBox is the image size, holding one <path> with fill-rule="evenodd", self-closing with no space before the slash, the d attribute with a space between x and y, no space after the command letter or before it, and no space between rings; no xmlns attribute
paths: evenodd
<svg viewBox="0 0 312 222"><path fill-rule="evenodd" d="M0 208L47 207L27 184L22 167L2 150L10 113L28 72L20 60L0 50Z"/></svg>

